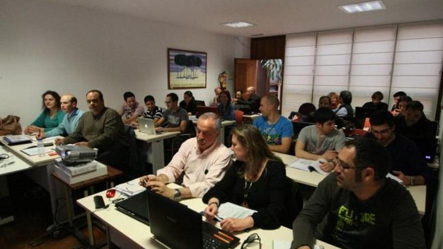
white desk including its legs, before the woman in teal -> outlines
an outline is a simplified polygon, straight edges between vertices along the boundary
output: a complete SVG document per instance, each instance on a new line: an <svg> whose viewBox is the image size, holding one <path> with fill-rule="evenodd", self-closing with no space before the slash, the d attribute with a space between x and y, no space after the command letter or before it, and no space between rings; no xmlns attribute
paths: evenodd
<svg viewBox="0 0 443 249"><path fill-rule="evenodd" d="M53 139L47 140L47 142L54 142L54 139L57 137L54 137ZM20 170L26 170L25 174L31 178L34 182L36 182L38 185L40 185L43 189L49 192L49 196L51 199L51 210L52 215L55 214L56 210L56 199L63 197L62 193L62 186L60 183L55 182L52 177L51 173L54 171L54 160L59 157L59 155L48 155L45 154L44 156L39 155L33 155L29 156L22 151L21 149L27 148L29 146L37 145L37 142L34 141L32 143L26 143L26 144L20 144L20 145L13 145L9 146L4 140L3 136L0 136L0 142L3 143L7 150L11 151L17 158L20 158L23 160L27 165L21 164ZM55 145L54 145L55 147ZM11 164L14 165L14 164ZM9 167L9 166L8 166ZM15 171L17 172L17 171ZM11 172L12 173L12 172ZM65 215L63 212L58 212L58 215ZM62 216L61 218L64 218Z"/></svg>

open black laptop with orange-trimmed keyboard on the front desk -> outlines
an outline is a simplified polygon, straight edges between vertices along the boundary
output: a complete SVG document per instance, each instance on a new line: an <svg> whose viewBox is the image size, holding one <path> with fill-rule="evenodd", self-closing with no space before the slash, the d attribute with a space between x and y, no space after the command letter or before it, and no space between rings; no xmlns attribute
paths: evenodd
<svg viewBox="0 0 443 249"><path fill-rule="evenodd" d="M170 248L234 248L240 239L202 221L201 214L152 191L146 191L151 233Z"/></svg>

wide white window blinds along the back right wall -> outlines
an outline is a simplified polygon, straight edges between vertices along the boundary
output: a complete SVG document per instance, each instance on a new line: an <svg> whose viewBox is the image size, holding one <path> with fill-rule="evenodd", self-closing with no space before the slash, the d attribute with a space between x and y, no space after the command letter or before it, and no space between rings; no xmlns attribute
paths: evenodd
<svg viewBox="0 0 443 249"><path fill-rule="evenodd" d="M443 22L385 25L286 36L282 114L348 90L352 106L381 91L392 106L406 92L434 119L443 60Z"/></svg>

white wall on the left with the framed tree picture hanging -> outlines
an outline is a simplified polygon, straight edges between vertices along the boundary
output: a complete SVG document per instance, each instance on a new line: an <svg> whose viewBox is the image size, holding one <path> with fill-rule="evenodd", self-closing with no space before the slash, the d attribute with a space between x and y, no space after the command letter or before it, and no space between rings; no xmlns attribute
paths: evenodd
<svg viewBox="0 0 443 249"><path fill-rule="evenodd" d="M168 90L167 48L207 53L207 88L191 90L206 103L218 74L249 58L248 38L39 1L2 0L0 11L0 117L18 115L22 126L41 112L46 90L77 96L83 110L91 89L115 109L125 91L140 104L148 94L160 106L169 92L182 99L183 90Z"/></svg>

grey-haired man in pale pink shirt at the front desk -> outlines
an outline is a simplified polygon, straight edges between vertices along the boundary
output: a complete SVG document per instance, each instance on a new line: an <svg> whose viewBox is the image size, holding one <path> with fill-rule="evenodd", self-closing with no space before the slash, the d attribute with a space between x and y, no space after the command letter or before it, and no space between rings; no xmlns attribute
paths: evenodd
<svg viewBox="0 0 443 249"><path fill-rule="evenodd" d="M171 162L157 171L157 176L140 178L140 185L170 199L201 198L221 180L231 164L229 149L218 140L221 121L215 113L204 113L197 121L197 137L186 140ZM180 179L180 178L183 179ZM177 182L184 188L171 189Z"/></svg>

